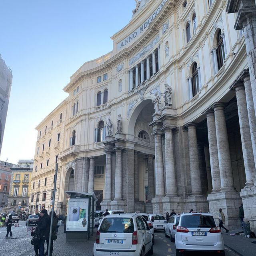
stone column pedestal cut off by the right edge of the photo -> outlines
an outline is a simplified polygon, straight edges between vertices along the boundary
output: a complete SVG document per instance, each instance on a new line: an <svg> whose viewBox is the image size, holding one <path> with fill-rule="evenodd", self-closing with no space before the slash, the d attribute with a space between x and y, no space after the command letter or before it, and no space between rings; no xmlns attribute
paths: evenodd
<svg viewBox="0 0 256 256"><path fill-rule="evenodd" d="M244 207L244 220L250 222L252 232L256 232L256 186L241 189L240 196Z"/></svg>

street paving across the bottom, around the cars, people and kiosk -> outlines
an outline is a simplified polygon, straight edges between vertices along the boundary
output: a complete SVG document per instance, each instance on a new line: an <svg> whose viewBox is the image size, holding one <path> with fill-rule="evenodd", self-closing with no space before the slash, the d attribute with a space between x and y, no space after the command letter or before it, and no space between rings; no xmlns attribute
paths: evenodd
<svg viewBox="0 0 256 256"><path fill-rule="evenodd" d="M5 237L6 228L0 228L0 252L3 256L34 256L34 247L30 244L32 236L26 231L24 221L20 221L20 227L12 226L12 237ZM14 224L15 225L15 224ZM30 226L34 227L34 226ZM58 239L54 241L53 256L93 256L94 236L84 243L66 243L64 226L59 228ZM96 231L96 229L95 229ZM170 238L164 237L164 232L155 232L155 244L153 256L175 256L175 244ZM45 243L46 246L46 243ZM232 250L225 248L226 256L238 256ZM205 253L188 254L205 256ZM216 255L216 254L212 254ZM207 253L207 256L210 254Z"/></svg>

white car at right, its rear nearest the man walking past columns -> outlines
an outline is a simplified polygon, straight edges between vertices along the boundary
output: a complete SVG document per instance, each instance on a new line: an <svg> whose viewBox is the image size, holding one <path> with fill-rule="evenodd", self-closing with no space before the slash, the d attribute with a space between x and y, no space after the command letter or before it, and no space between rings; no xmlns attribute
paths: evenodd
<svg viewBox="0 0 256 256"><path fill-rule="evenodd" d="M221 229L211 214L185 213L180 215L175 235L176 256L186 251L216 252L225 255Z"/></svg>

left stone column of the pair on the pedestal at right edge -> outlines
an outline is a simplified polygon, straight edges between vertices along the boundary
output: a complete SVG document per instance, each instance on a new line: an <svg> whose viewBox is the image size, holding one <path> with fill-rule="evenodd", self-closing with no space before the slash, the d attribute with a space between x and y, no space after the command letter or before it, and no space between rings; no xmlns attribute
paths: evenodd
<svg viewBox="0 0 256 256"><path fill-rule="evenodd" d="M244 169L246 175L246 186L253 186L253 178L255 178L256 173L244 84L235 84L233 88L236 90L240 134L244 157Z"/></svg>

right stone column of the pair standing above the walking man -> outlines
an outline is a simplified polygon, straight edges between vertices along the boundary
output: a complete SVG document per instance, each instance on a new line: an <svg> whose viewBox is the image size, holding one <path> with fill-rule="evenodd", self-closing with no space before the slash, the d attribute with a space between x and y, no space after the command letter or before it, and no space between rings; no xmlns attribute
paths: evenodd
<svg viewBox="0 0 256 256"><path fill-rule="evenodd" d="M214 105L216 139L220 168L220 191L234 191L234 179L231 166L228 132L224 113L224 104Z"/></svg>

